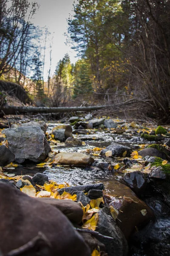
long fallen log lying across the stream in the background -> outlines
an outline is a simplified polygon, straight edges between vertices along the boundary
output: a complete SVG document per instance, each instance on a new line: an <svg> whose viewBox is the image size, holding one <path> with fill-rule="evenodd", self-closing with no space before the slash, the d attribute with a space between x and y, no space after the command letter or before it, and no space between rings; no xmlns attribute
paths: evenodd
<svg viewBox="0 0 170 256"><path fill-rule="evenodd" d="M115 105L102 105L93 107L60 107L60 108L48 108L48 107L16 107L16 106L1 106L1 113L4 115L17 115L26 113L64 113L64 112L78 112L78 111L93 111L103 108L111 108Z"/></svg>

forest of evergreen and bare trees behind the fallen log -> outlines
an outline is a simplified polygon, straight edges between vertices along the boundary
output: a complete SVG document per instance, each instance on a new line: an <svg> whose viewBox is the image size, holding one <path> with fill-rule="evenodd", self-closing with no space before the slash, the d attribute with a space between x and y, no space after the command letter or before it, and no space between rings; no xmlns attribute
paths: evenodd
<svg viewBox="0 0 170 256"><path fill-rule="evenodd" d="M33 24L39 6L0 0L0 79L19 84L48 107L115 105L110 114L169 120L170 1L78 0L68 18L67 44L77 51L49 66L44 79L48 29ZM52 52L50 52L50 58Z"/></svg>

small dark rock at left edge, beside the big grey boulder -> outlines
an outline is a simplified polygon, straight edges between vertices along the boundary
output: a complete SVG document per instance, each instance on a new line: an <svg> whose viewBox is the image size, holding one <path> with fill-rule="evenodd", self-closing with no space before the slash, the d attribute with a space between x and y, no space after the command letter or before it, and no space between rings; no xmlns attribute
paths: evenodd
<svg viewBox="0 0 170 256"><path fill-rule="evenodd" d="M6 166L15 160L15 155L5 145L0 146L0 166Z"/></svg>

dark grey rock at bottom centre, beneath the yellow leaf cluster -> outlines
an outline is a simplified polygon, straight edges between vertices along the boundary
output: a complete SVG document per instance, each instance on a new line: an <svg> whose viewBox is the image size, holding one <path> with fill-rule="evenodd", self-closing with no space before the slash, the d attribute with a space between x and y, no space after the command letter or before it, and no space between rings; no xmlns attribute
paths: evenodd
<svg viewBox="0 0 170 256"><path fill-rule="evenodd" d="M109 215L108 207L99 210L99 218L96 231L104 236L113 237L113 239L98 238L105 244L106 252L111 256L126 256L128 252L127 241L116 222Z"/></svg>

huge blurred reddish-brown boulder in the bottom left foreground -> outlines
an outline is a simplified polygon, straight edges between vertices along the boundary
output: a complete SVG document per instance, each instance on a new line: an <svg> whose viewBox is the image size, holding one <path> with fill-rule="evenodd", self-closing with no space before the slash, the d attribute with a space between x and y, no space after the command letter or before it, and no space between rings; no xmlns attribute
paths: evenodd
<svg viewBox="0 0 170 256"><path fill-rule="evenodd" d="M3 183L0 183L0 218L0 250L4 255L27 244L39 232L44 237L41 243L37 241L33 248L27 246L22 255L91 255L85 241L59 209Z"/></svg>

